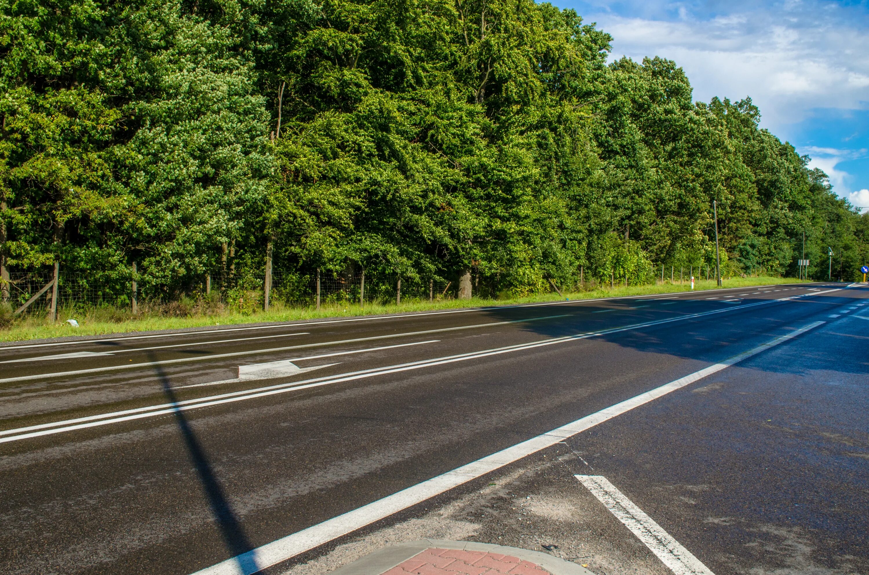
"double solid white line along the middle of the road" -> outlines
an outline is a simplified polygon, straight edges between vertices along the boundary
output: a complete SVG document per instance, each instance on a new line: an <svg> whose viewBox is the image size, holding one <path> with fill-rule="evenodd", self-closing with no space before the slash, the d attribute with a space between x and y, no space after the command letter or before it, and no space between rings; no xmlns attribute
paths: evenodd
<svg viewBox="0 0 869 575"><path fill-rule="evenodd" d="M836 290L830 290L836 291ZM815 295L815 294L813 294ZM741 306L736 309L746 309L747 307L755 307L762 306L769 303L773 303L775 301L785 301L792 300L797 297L802 296L793 296L789 298L783 298L781 300L771 300L771 301L760 301L758 303L748 304L746 306ZM138 407L136 409L127 409L123 411L111 412L111 413L102 413L99 415L90 415L88 417L76 418L74 420L62 420L55 421L52 423L44 423L37 426L26 426L26 427L18 427L16 429L7 429L5 431L0 431L0 443L8 443L10 441L18 441L18 440L26 440L34 437L41 437L43 435L52 435L55 433L63 433L69 431L75 431L76 429L84 429L88 427L96 427L96 426L106 426L112 423L121 423L123 421L132 421L132 420L141 420L148 417L156 417L158 415L165 415L168 413L181 412L181 411L189 411L191 409L196 409L199 407L209 407L209 406L218 406L227 403L234 403L235 401L242 400L253 400L256 398L267 397L269 395L276 395L278 393L288 393L297 391L300 389L308 389L311 387L321 387L328 386L334 383L342 383L344 381L353 381L353 380L363 380L370 377L375 377L379 375L386 375L388 373L400 373L405 371L411 371L415 369L422 369L425 367L434 367L441 366L448 363L454 363L457 361L467 361L467 360L475 360L482 357L488 357L491 355L499 355L499 354L509 354L517 351L522 351L526 349L533 349L534 347L544 347L551 346L554 344L565 343L567 341L575 341L575 340L584 340L591 337L596 337L600 335L607 334L617 334L619 332L631 331L634 329L640 329L643 327L652 327L659 326L662 324L673 323L674 321L685 321L691 320L699 317L706 317L714 314L723 314L726 312L733 311L734 308L726 307L723 309L717 309L709 312L702 312L698 314L687 314L677 318L669 318L666 320L657 320L657 321L646 321L643 323L637 323L630 326L624 327L613 327L610 329L602 329L594 332L587 332L585 334L575 334L575 335L567 335L559 338L552 338L548 340L535 341L532 343L523 343L516 344L513 346L507 347L495 347L492 349L486 349L479 352L470 352L468 354L457 354L457 355L448 355L445 357L434 358L431 360L419 360L412 361L409 363L402 363L394 366L387 367L375 367L371 369L365 369L361 371L355 371L350 373L342 373L340 375L331 375L331 376L323 376L320 378L314 378L310 380L302 380L302 381L294 381L290 383L282 383L276 384L273 386L267 387L257 387L255 389L247 389L238 392L231 393L220 393L217 395L209 395L202 398L192 399L192 400L183 400L177 401L175 403L163 403L156 406L145 406ZM510 323L510 322L505 322ZM432 333L434 331L441 330L431 330L430 332L422 332L422 333ZM224 354L230 355L230 354Z"/></svg>

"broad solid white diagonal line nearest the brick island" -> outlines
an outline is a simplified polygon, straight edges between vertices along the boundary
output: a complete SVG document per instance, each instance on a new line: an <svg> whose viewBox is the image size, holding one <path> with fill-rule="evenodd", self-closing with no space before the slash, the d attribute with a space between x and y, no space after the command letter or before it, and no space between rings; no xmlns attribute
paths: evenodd
<svg viewBox="0 0 869 575"><path fill-rule="evenodd" d="M810 329L823 324L823 321L815 321L805 327L800 327L790 334L779 336L770 340L758 347L753 347L741 354L716 363L709 367L704 367L700 371L689 373L685 377L678 380L673 380L660 387L640 393L629 400L621 401L614 406L609 406L597 413L592 413L579 420L572 421L566 426L556 427L552 431L542 433L530 440L522 441L514 446L502 449L500 452L492 453L481 459L477 459L467 465L457 467L452 471L427 479L415 486L410 486L400 492L388 495L383 499L378 499L368 505L358 507L353 511L346 512L342 515L323 521L320 524L312 525L307 529L302 529L300 532L295 532L291 535L277 539L269 544L257 547L242 555L226 559L221 563L212 565L195 575L249 575L257 571L262 571L271 565L281 563L289 558L295 557L299 553L303 553L314 549L319 545L323 545L332 539L342 537L357 529L385 519L390 515L400 512L402 509L407 509L410 506L415 506L426 499L446 492L455 486L476 479L491 473L494 470L509 465L514 461L527 457L532 453L554 446L567 438L573 437L577 433L582 433L591 427L597 426L604 421L611 420L614 417L626 413L634 407L641 406L649 401L656 400L667 393L671 393L680 387L685 387L697 380L701 380L708 375L720 372L726 367L730 367L735 363L746 360L753 355L760 354L770 347L778 346L787 340L791 340L799 334L805 334ZM242 566L243 565L243 566ZM251 571L252 569L252 571Z"/></svg>

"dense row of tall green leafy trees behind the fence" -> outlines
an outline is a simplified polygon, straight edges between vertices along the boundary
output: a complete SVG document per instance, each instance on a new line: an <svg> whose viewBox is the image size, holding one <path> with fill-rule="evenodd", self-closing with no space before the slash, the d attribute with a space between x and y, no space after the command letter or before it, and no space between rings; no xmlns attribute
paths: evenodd
<svg viewBox="0 0 869 575"><path fill-rule="evenodd" d="M850 280L869 221L751 100L531 0L0 0L3 265L489 294L714 261ZM660 269L660 268L659 268ZM467 282L467 281L466 281Z"/></svg>

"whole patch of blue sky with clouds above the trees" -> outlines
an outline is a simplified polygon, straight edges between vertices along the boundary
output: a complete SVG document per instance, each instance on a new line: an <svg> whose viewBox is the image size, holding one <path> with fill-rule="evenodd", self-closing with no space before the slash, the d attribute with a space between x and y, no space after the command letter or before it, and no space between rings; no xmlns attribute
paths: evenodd
<svg viewBox="0 0 869 575"><path fill-rule="evenodd" d="M550 0L613 37L613 58L669 58L695 100L751 96L761 126L869 207L869 1Z"/></svg>

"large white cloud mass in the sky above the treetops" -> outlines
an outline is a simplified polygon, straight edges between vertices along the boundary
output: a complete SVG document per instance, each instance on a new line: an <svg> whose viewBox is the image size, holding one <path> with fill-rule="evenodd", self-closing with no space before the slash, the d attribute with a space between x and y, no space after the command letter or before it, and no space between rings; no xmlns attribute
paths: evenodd
<svg viewBox="0 0 869 575"><path fill-rule="evenodd" d="M600 10L583 16L612 34L614 58L672 59L685 69L696 99L751 96L773 132L801 122L813 109L869 108L866 18L849 17L847 7L753 3L702 19L680 3L675 20L667 17L673 4L637 7L643 17Z"/></svg>

